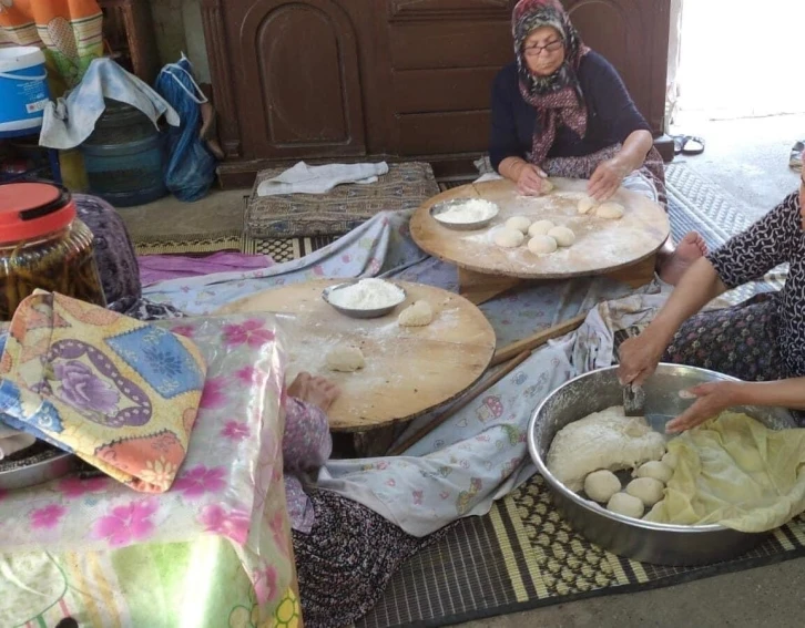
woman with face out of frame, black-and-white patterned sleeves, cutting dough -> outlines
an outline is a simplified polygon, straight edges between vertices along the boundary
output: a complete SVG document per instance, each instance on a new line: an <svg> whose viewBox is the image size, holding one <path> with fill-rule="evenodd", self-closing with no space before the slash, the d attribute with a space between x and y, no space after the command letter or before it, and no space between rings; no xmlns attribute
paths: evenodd
<svg viewBox="0 0 805 628"><path fill-rule="evenodd" d="M670 432L694 428L733 405L805 410L803 207L805 173L798 193L695 261L651 325L621 346L619 377L623 383L643 382L660 361L702 367L744 380L693 388L697 400L668 424ZM727 289L758 279L784 262L791 266L779 292L696 315ZM804 414L795 415L805 424Z"/></svg>

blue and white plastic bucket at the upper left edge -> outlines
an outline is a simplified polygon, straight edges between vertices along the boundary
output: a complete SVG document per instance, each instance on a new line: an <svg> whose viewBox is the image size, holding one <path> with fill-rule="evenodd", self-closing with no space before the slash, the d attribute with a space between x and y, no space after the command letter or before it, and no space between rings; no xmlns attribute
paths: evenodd
<svg viewBox="0 0 805 628"><path fill-rule="evenodd" d="M48 101L42 51L30 45L0 48L0 133L42 126Z"/></svg>

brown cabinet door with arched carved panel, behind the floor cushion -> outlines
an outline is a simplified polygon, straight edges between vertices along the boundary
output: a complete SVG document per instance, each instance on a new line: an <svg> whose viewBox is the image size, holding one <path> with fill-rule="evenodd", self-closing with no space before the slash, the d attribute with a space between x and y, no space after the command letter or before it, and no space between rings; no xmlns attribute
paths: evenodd
<svg viewBox="0 0 805 628"><path fill-rule="evenodd" d="M365 153L356 33L334 0L224 3L246 158Z"/></svg>

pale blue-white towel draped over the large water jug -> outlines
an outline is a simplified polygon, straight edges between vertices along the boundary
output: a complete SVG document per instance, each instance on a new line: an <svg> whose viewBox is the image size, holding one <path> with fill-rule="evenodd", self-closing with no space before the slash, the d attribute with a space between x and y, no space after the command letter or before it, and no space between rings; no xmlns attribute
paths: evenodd
<svg viewBox="0 0 805 628"><path fill-rule="evenodd" d="M163 114L167 124L179 126L179 114L146 83L111 59L95 59L78 87L45 106L40 145L68 151L82 144L106 109L104 99L139 109L154 126Z"/></svg>

